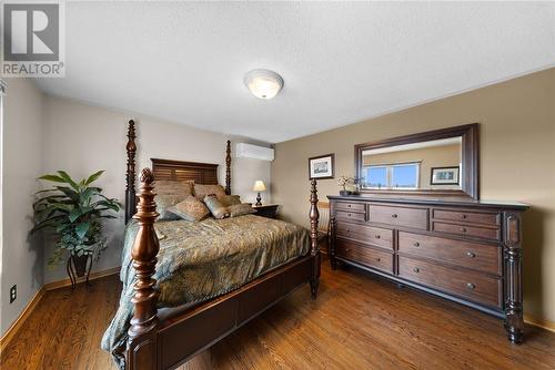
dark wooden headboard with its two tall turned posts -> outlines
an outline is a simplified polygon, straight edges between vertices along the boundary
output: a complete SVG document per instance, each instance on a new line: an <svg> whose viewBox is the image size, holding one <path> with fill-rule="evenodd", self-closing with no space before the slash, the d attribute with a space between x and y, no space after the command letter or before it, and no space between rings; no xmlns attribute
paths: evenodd
<svg viewBox="0 0 555 370"><path fill-rule="evenodd" d="M125 223L137 212L135 197L135 123L129 121L128 143L128 169L125 174ZM186 181L192 179L196 184L218 184L218 164L183 162L173 160L151 158L154 179ZM231 141L228 140L225 147L225 194L231 194Z"/></svg>

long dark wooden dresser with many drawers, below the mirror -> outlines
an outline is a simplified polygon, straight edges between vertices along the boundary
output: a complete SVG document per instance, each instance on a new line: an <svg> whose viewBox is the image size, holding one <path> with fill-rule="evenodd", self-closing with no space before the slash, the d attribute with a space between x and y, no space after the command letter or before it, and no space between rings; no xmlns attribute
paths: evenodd
<svg viewBox="0 0 555 370"><path fill-rule="evenodd" d="M505 318L523 340L518 203L329 196L330 260Z"/></svg>

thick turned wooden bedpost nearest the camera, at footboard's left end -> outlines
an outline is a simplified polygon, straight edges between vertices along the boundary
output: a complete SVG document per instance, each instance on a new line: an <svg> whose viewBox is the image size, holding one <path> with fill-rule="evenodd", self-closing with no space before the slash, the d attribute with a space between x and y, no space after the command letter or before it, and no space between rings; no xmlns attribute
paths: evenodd
<svg viewBox="0 0 555 370"><path fill-rule="evenodd" d="M141 182L139 207L133 216L139 222L139 233L131 250L137 282L134 296L131 298L134 311L128 331L127 370L158 369L158 292L154 290L157 280L152 276L155 271L157 255L160 248L154 230L154 220L159 214L157 213L155 193L152 184L154 175L150 168L142 171Z"/></svg>

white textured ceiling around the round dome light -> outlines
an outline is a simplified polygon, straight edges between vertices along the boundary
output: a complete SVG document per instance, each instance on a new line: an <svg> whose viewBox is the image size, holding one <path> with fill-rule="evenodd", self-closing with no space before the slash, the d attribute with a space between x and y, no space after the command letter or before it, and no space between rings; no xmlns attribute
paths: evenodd
<svg viewBox="0 0 555 370"><path fill-rule="evenodd" d="M554 2L68 2L65 79L37 82L275 143L554 64Z"/></svg>

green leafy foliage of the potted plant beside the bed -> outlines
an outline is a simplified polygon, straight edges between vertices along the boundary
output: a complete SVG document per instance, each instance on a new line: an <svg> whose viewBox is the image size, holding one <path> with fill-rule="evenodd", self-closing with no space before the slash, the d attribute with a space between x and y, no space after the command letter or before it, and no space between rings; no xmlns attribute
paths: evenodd
<svg viewBox="0 0 555 370"><path fill-rule="evenodd" d="M78 257L95 254L98 259L107 248L102 219L115 218L110 212L119 212L121 204L102 195L102 188L91 186L103 173L99 171L80 182L64 171L39 177L59 184L38 192L39 199L33 204L34 227L31 233L48 229L56 239L49 268L61 263L63 250Z"/></svg>

